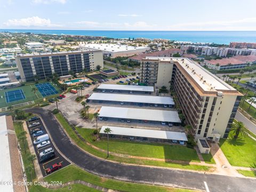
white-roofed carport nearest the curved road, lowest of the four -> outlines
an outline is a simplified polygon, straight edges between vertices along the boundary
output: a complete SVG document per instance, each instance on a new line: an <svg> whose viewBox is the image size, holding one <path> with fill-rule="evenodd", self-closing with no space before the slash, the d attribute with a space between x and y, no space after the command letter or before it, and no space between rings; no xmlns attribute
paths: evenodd
<svg viewBox="0 0 256 192"><path fill-rule="evenodd" d="M162 141L171 142L171 140L188 141L184 132L172 132L172 131L159 131L159 130L147 130L147 129L135 129L127 127L115 127L115 126L102 126L100 133L105 135L104 130L106 128L111 130L111 136L115 135L115 138L126 139L124 136L134 137L134 140L140 141ZM127 138L130 139L130 138Z"/></svg>

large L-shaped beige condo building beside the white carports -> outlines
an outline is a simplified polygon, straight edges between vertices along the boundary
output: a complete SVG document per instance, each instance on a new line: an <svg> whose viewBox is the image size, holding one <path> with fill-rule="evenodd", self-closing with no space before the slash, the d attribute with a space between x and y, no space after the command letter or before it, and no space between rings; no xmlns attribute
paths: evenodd
<svg viewBox="0 0 256 192"><path fill-rule="evenodd" d="M243 94L187 58L148 57L141 61L140 81L173 87L196 139L227 138Z"/></svg>

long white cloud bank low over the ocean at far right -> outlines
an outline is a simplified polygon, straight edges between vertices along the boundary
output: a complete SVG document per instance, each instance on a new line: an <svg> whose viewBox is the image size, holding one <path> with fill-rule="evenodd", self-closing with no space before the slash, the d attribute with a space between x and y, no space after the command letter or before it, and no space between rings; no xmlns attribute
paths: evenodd
<svg viewBox="0 0 256 192"><path fill-rule="evenodd" d="M244 18L230 21L207 21L179 23L167 27L171 30L255 30L256 18Z"/></svg>

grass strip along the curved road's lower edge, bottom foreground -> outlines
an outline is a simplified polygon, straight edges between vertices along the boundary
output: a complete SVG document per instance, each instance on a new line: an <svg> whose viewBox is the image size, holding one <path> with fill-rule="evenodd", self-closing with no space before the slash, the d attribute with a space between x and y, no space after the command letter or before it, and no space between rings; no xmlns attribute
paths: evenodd
<svg viewBox="0 0 256 192"><path fill-rule="evenodd" d="M105 187L108 189L119 190L119 191L177 191L177 192L185 192L191 191L186 189L177 189L177 188L167 188L167 187L159 187L159 186L152 186L152 185L143 185L138 183L131 183L131 182L123 182L117 181L113 179L101 178L97 175L93 175L86 171L79 169L74 165L70 165L61 169L58 172L55 172L48 177L44 178L45 181L62 181L62 183L66 183L73 180L83 180L89 183L92 183L96 186ZM87 191L87 190L86 190Z"/></svg>

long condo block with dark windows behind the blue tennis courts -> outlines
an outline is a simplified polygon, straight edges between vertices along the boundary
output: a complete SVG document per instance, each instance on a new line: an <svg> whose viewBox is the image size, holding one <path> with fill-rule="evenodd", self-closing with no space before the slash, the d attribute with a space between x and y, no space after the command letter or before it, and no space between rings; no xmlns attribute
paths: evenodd
<svg viewBox="0 0 256 192"><path fill-rule="evenodd" d="M98 65L103 69L101 51L18 54L15 59L23 82L35 81L35 75L46 79L54 73L68 75L70 70L74 73L81 73L83 69L92 71Z"/></svg>

